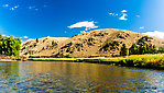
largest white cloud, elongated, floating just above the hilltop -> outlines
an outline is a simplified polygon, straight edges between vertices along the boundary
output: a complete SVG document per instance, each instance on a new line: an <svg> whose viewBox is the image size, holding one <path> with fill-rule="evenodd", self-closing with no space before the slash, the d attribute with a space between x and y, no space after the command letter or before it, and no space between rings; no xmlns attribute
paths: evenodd
<svg viewBox="0 0 164 93"><path fill-rule="evenodd" d="M84 22L78 22L78 23L75 23L70 26L68 26L69 28L75 28L75 27L86 27L85 30L88 31L90 28L97 28L98 26L95 25L95 22L91 21L91 22L88 22L88 21L84 21Z"/></svg>

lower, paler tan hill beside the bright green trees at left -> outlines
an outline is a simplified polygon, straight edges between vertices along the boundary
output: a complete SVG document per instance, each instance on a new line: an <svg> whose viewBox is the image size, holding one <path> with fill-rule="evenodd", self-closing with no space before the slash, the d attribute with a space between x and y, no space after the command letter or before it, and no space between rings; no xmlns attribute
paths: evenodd
<svg viewBox="0 0 164 93"><path fill-rule="evenodd" d="M44 37L22 43L21 45L21 56L51 56L52 51L61 46L61 44L66 40L67 37Z"/></svg>

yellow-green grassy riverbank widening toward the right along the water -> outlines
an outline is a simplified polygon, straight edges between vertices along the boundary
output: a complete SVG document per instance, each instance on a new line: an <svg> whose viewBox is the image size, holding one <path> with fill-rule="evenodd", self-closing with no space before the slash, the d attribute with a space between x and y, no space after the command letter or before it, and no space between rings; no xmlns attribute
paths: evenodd
<svg viewBox="0 0 164 93"><path fill-rule="evenodd" d="M33 61L74 61L108 63L111 66L164 69L164 55L133 55L116 58L29 58Z"/></svg>

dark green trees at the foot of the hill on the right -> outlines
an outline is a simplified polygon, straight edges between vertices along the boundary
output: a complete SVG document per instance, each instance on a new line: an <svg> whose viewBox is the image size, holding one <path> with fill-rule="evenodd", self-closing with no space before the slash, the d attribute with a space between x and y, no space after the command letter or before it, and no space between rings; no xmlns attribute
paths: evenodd
<svg viewBox="0 0 164 93"><path fill-rule="evenodd" d="M162 48L164 50L164 48ZM139 45L133 44L130 48L127 48L125 44L122 45L120 56L128 56L128 55L144 55L144 54L157 54L160 53L156 49L155 45L147 45L140 43Z"/></svg>

